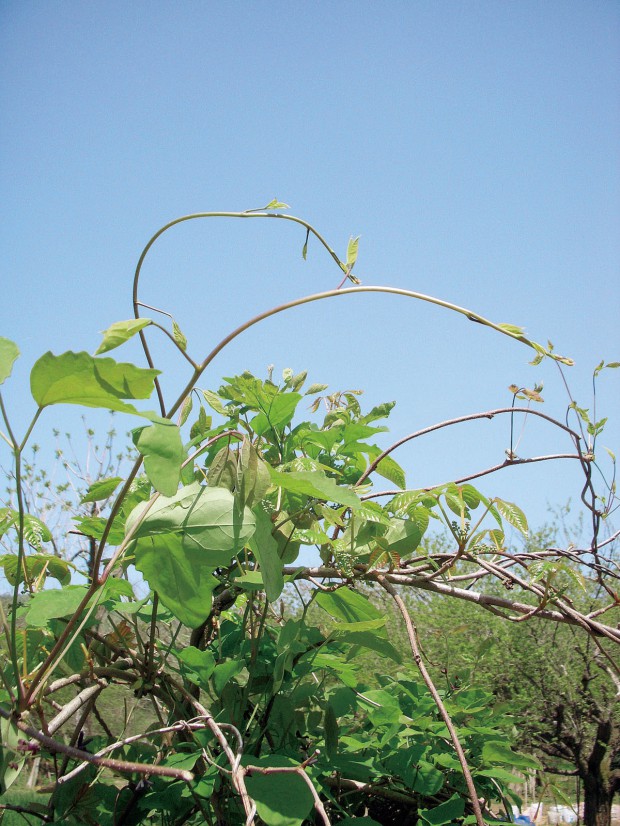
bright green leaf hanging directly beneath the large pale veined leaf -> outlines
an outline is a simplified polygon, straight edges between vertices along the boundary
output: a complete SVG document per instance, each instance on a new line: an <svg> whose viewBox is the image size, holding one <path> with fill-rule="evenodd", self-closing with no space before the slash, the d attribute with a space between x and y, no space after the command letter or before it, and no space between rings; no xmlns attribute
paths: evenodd
<svg viewBox="0 0 620 826"><path fill-rule="evenodd" d="M136 568L183 625L197 628L211 611L219 584L201 548L184 547L176 533L145 536L135 546Z"/></svg>

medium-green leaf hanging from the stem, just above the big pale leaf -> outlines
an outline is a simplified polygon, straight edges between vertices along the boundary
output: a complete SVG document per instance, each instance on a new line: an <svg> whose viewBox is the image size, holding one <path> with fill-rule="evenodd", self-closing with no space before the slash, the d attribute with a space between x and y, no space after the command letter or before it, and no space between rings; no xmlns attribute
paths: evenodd
<svg viewBox="0 0 620 826"><path fill-rule="evenodd" d="M174 422L162 419L136 428L131 437L144 456L144 469L155 490L164 496L174 496L186 458L179 428Z"/></svg>

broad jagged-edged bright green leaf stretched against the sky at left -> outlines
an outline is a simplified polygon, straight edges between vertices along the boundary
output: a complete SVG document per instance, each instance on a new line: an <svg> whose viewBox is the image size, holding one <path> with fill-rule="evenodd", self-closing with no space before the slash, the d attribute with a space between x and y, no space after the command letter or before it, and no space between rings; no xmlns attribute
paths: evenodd
<svg viewBox="0 0 620 826"><path fill-rule="evenodd" d="M143 415L121 399L148 399L159 373L84 352L47 352L32 368L30 389L40 407L79 404Z"/></svg>

